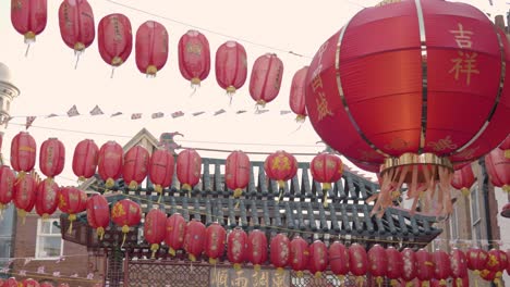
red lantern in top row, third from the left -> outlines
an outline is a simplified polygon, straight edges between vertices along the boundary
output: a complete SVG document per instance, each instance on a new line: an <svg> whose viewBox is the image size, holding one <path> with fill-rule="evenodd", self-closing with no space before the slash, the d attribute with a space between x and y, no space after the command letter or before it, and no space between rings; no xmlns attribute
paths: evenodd
<svg viewBox="0 0 510 287"><path fill-rule="evenodd" d="M97 34L102 60L112 67L122 65L133 49L130 20L122 14L109 14L99 22Z"/></svg>

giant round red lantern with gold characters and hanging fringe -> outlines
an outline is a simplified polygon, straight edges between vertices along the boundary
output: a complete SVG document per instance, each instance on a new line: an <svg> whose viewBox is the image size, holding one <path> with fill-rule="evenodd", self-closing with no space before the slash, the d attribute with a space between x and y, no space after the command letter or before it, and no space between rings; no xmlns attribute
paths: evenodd
<svg viewBox="0 0 510 287"><path fill-rule="evenodd" d="M315 130L348 159L380 164L374 213L381 216L403 184L414 200L437 187L432 205L451 213L453 166L510 134L503 32L476 8L449 1L399 1L348 23L308 70Z"/></svg>

